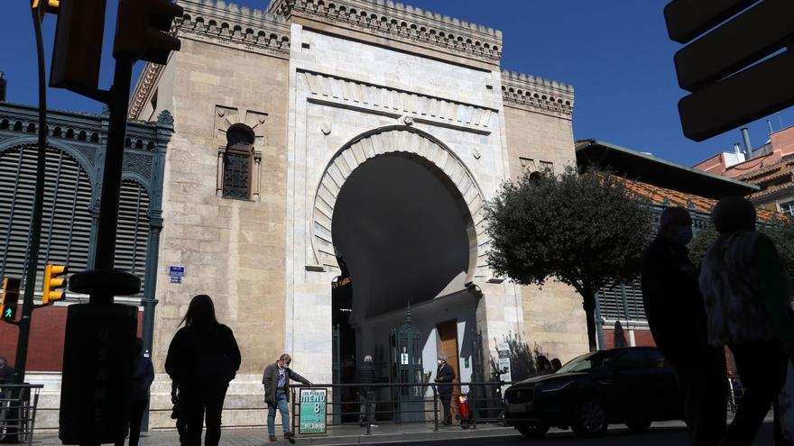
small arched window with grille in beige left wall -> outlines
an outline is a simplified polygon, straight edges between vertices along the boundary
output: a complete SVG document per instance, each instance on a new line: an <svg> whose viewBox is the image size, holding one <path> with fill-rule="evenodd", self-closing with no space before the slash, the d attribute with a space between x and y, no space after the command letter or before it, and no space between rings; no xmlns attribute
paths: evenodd
<svg viewBox="0 0 794 446"><path fill-rule="evenodd" d="M251 199L254 173L254 131L234 124L226 131L223 153L223 197Z"/></svg>

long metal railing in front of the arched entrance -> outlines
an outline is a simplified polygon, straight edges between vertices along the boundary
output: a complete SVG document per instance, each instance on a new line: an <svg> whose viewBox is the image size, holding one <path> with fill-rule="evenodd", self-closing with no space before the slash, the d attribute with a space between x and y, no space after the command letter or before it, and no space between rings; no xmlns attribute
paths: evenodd
<svg viewBox="0 0 794 446"><path fill-rule="evenodd" d="M371 433L372 424L407 424L432 423L433 431L439 431L443 422L442 404L439 400L439 388L452 387L450 412L453 424L457 422L467 429L477 428L478 423L503 423L504 403L502 389L512 382L463 382L453 384L315 384L309 386L291 386L291 431L296 430L300 420L300 389L326 388L340 397L326 399L326 420L328 425L351 426L361 425L367 434ZM369 388L367 392L364 388ZM460 416L458 401L468 405L468 418ZM374 411L372 410L374 407ZM457 413L457 414L456 414ZM331 421L334 423L330 423Z"/></svg>

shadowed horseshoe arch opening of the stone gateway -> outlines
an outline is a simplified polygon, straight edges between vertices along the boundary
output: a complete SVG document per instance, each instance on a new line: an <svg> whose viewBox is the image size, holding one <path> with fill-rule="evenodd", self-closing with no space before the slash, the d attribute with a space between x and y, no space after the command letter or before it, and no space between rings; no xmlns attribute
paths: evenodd
<svg viewBox="0 0 794 446"><path fill-rule="evenodd" d="M428 159L386 153L367 159L346 178L332 217L342 269L332 294L336 382L353 382L365 355L374 357L376 376L402 382L391 367L390 332L402 325L408 305L430 305L466 289L473 226L455 184ZM436 354L428 336L444 319L431 321L434 317L425 314L417 321L425 327L417 342L418 364L425 350ZM434 369L431 362L428 367ZM421 365L416 374L421 382ZM392 396L385 390L378 399L386 403L377 410L388 412ZM355 393L340 394L340 408L352 409L344 401L355 400ZM354 416L342 415L340 421L355 421Z"/></svg>

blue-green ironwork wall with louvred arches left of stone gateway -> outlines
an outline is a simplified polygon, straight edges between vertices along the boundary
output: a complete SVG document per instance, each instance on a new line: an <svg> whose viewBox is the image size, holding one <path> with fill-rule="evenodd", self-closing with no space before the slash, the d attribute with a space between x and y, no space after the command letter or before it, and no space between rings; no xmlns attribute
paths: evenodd
<svg viewBox="0 0 794 446"><path fill-rule="evenodd" d="M66 265L70 272L93 267L108 126L107 114L48 111L37 298L47 263ZM0 102L0 277L21 278L27 264L37 132L36 107ZM115 265L142 279L141 293L121 300L143 305L144 349L149 351L157 303L165 152L172 133L173 118L164 111L156 122L128 123L125 141ZM68 293L66 302L87 299Z"/></svg>

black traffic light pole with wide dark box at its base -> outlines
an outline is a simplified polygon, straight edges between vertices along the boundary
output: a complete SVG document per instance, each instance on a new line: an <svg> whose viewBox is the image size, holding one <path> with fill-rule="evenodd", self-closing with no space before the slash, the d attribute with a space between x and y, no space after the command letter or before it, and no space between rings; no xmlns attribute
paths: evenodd
<svg viewBox="0 0 794 446"><path fill-rule="evenodd" d="M60 395L63 444L123 442L128 428L137 328L136 306L114 304L133 296L141 279L114 269L115 235L124 162L126 115L134 58L115 55L113 86L107 96L107 131L94 269L70 278L69 289L87 293L88 304L69 305ZM86 391L90 397L86 397ZM88 416L87 416L88 414Z"/></svg>

